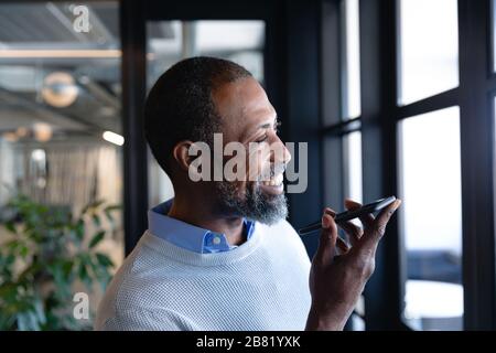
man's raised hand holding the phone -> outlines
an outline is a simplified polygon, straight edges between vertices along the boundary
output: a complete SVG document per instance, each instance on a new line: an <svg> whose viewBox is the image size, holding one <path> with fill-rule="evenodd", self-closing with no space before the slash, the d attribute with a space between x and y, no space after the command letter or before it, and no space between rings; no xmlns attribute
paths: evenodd
<svg viewBox="0 0 496 353"><path fill-rule="evenodd" d="M377 245L386 225L400 204L400 200L395 201L377 218L371 214L360 217L363 229L352 222L339 222L352 247L337 236L336 213L324 210L320 244L310 271L312 307L306 330L343 330L374 272ZM355 210L362 205L346 200L345 206Z"/></svg>

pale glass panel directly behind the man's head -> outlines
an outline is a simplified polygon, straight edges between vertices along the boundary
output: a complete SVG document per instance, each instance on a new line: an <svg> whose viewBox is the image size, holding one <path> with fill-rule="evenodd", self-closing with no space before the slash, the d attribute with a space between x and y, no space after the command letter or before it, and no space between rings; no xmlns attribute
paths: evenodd
<svg viewBox="0 0 496 353"><path fill-rule="evenodd" d="M263 21L153 21L147 24L147 31L149 89L173 64L197 55L234 61L263 84ZM150 206L174 195L171 180L151 153L149 185Z"/></svg>

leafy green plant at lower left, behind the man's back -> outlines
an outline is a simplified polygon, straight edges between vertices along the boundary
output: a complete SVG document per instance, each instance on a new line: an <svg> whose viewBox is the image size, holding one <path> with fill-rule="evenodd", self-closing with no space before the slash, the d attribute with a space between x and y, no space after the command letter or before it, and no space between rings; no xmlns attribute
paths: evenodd
<svg viewBox="0 0 496 353"><path fill-rule="evenodd" d="M73 315L76 284L91 292L105 290L114 267L97 250L106 232L101 217L114 224L118 205L93 202L77 215L25 195L7 204L10 214L0 238L0 330L85 330ZM96 229L87 237L88 226Z"/></svg>

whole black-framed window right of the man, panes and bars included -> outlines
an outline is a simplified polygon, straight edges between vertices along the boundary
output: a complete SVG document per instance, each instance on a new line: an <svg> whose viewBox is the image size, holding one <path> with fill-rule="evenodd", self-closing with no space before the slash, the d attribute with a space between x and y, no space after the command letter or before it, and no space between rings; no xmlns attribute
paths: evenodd
<svg viewBox="0 0 496 353"><path fill-rule="evenodd" d="M474 212L495 199L496 142L492 136L489 143L488 131L496 135L496 122L487 116L490 105L496 110L496 100L487 101L496 95L494 2L359 1L359 23L353 24L358 46L349 44L354 4L325 2L326 203L357 194L353 185L359 184L363 202L389 194L403 200L366 287L367 330L494 329L494 214ZM351 50L359 53L357 85L349 83ZM336 88L327 72L338 68ZM349 114L353 86L362 95L356 115ZM363 160L351 157L359 140ZM356 161L362 165L351 164ZM442 207L424 202L432 199Z"/></svg>

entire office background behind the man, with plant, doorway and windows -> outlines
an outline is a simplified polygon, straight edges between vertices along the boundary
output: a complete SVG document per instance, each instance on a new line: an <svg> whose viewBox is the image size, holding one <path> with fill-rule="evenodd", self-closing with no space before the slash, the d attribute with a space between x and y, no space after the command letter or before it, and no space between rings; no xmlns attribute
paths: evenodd
<svg viewBox="0 0 496 353"><path fill-rule="evenodd" d="M147 210L173 196L142 135L147 92L195 55L247 67L282 139L309 142L294 227L344 197L402 199L347 330L496 329L495 13L489 0L2 2L0 329L90 329ZM312 256L317 236L303 242Z"/></svg>

